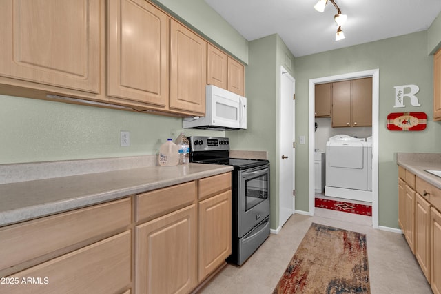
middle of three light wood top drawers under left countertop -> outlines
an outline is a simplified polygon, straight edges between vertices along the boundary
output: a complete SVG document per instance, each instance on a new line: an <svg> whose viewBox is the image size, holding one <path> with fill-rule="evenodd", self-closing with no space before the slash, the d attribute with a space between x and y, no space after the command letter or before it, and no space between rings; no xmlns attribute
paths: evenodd
<svg viewBox="0 0 441 294"><path fill-rule="evenodd" d="M191 204L196 199L196 182L187 182L136 195L136 222L158 217Z"/></svg>

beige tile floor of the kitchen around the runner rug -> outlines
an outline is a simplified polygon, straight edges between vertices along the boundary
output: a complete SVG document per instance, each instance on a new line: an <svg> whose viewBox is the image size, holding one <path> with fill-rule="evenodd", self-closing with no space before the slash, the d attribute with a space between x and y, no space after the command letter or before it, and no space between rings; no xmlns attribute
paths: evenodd
<svg viewBox="0 0 441 294"><path fill-rule="evenodd" d="M371 293L432 293L403 235L373 229L370 217L320 208L314 217L291 216L245 264L228 264L200 293L271 294L312 222L367 235Z"/></svg>

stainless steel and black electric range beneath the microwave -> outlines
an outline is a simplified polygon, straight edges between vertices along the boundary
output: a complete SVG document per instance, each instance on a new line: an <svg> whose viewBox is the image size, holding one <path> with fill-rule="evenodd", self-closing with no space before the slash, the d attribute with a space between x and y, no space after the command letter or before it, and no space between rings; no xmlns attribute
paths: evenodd
<svg viewBox="0 0 441 294"><path fill-rule="evenodd" d="M190 161L233 166L232 255L242 265L269 236L269 161L229 158L229 139L189 137Z"/></svg>

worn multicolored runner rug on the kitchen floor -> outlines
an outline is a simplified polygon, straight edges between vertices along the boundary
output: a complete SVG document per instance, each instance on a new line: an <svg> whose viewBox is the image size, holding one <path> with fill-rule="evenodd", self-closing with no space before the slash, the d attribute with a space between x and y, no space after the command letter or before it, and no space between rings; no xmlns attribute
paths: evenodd
<svg viewBox="0 0 441 294"><path fill-rule="evenodd" d="M370 293L366 235L311 224L273 294Z"/></svg>

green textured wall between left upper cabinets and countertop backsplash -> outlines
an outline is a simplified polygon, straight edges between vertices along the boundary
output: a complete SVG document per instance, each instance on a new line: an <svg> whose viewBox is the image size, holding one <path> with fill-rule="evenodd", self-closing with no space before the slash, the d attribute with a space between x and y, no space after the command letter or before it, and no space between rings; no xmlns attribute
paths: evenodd
<svg viewBox="0 0 441 294"><path fill-rule="evenodd" d="M0 101L0 164L154 155L183 130L174 117L6 95ZM130 131L130 146L120 146L121 130Z"/></svg>

